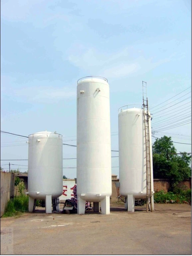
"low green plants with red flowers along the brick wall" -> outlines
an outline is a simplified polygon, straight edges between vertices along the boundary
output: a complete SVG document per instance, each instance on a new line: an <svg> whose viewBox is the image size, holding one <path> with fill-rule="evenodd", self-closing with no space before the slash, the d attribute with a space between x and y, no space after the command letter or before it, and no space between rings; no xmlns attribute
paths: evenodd
<svg viewBox="0 0 192 256"><path fill-rule="evenodd" d="M191 189L182 190L180 194L159 191L154 193L155 203L191 203Z"/></svg>

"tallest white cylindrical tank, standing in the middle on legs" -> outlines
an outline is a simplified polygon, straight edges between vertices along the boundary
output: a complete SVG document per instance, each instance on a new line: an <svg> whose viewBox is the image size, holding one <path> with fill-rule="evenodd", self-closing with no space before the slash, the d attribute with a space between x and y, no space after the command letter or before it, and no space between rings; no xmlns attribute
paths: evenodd
<svg viewBox="0 0 192 256"><path fill-rule="evenodd" d="M86 201L101 202L110 213L111 141L109 85L105 78L85 77L77 85L78 214Z"/></svg>

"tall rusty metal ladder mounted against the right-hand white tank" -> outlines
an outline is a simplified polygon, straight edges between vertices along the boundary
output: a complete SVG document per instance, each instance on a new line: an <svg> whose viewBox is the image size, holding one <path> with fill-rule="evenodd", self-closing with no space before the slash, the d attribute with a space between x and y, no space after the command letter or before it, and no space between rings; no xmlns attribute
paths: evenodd
<svg viewBox="0 0 192 256"><path fill-rule="evenodd" d="M148 99L147 99L147 83L142 81L143 87L143 121L145 127L145 152L146 152L146 192L147 192L147 206L146 211L152 212L151 207L151 154L150 154L150 136L149 136L149 115ZM144 92L145 91L145 92ZM145 97L144 97L145 95ZM146 100L144 99L146 98Z"/></svg>

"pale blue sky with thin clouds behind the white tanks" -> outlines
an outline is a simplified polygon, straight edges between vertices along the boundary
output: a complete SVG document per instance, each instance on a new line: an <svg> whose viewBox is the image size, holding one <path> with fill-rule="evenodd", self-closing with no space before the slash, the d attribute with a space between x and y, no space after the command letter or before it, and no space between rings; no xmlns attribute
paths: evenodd
<svg viewBox="0 0 192 256"><path fill-rule="evenodd" d="M174 143L178 152L191 152L191 124L185 122L191 118L190 2L2 0L1 130L25 136L56 130L64 143L76 145L77 80L103 76L110 86L111 149L118 150L118 108L142 105L146 81L151 113L172 110L169 116L154 114L152 126L177 120L167 130L154 124L152 129L159 130L154 136L170 135L187 143ZM26 140L1 134L1 159L27 159ZM73 157L76 147L64 146L63 158ZM27 169L21 166L27 161L10 162L16 164L11 168ZM1 161L4 168L8 163ZM63 165L76 167L76 160ZM112 166L118 166L118 157ZM118 175L118 167L112 173ZM76 169L64 168L64 174L74 178Z"/></svg>

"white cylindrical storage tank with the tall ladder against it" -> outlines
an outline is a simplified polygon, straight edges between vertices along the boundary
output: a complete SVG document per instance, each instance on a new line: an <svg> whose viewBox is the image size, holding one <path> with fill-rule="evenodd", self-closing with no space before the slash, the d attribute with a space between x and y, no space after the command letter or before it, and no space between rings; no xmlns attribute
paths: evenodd
<svg viewBox="0 0 192 256"><path fill-rule="evenodd" d="M122 108L118 114L120 195L126 198L125 208L131 212L134 211L135 199L142 199L147 196L146 147L143 115L143 110L139 108L126 108L125 110ZM152 181L151 190L153 191L150 119L149 131ZM153 201L153 197L151 201ZM153 203L152 207L154 207Z"/></svg>

